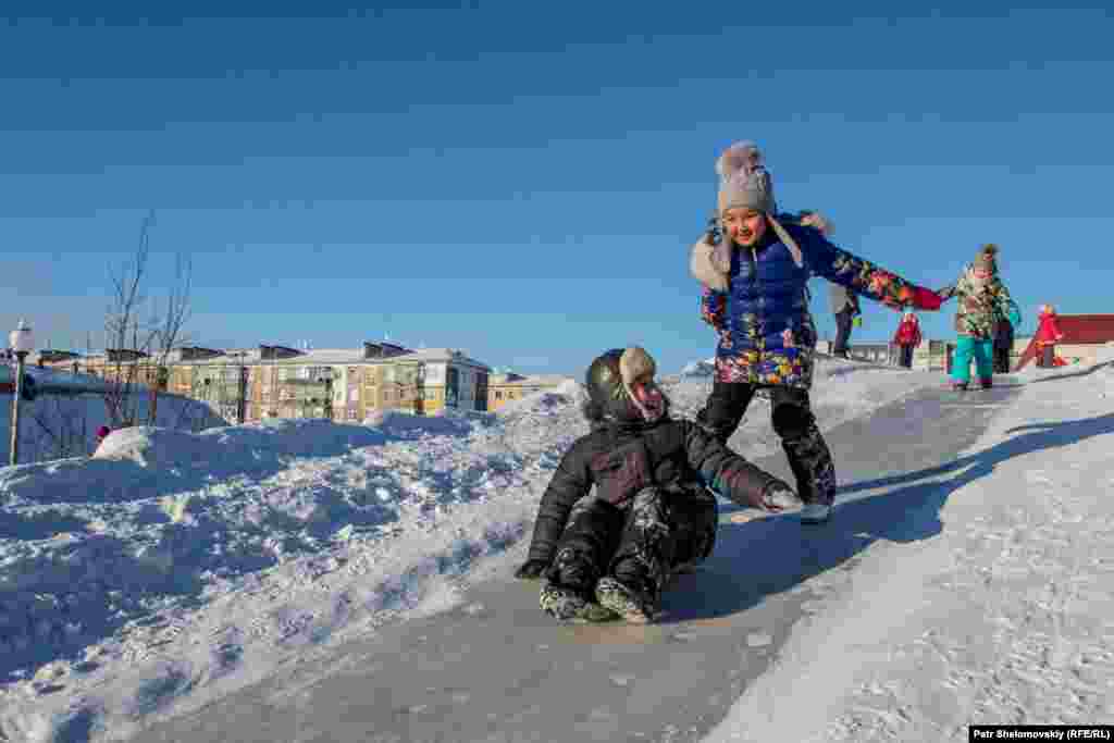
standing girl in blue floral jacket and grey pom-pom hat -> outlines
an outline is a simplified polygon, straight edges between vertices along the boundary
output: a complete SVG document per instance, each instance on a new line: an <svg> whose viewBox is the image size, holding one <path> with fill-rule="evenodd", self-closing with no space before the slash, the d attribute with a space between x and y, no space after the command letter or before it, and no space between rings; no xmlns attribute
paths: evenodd
<svg viewBox="0 0 1114 743"><path fill-rule="evenodd" d="M690 264L704 285L701 315L720 339L712 394L697 421L726 442L754 393L768 389L773 428L805 504L802 521L824 521L836 471L809 401L817 343L809 277L818 274L895 309L937 310L940 300L837 247L821 229L782 225L770 173L753 143L727 148L716 172L722 239L720 231L705 235L693 246Z"/></svg>

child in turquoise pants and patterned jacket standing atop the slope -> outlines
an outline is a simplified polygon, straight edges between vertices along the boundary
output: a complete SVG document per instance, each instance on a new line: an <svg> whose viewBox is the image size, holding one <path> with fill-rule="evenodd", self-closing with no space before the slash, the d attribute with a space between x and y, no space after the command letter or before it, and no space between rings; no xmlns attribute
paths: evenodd
<svg viewBox="0 0 1114 743"><path fill-rule="evenodd" d="M998 276L998 246L987 243L979 248L975 262L964 266L959 281L940 290L944 301L959 299L956 309L956 352L951 360L951 388L966 390L970 383L971 360L979 387L994 387L994 338L999 322L1017 324L1017 305L1009 297Z"/></svg>

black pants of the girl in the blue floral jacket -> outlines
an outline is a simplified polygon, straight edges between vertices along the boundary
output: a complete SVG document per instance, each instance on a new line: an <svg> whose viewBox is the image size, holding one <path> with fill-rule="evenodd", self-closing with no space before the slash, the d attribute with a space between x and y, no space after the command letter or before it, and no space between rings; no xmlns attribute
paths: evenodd
<svg viewBox="0 0 1114 743"><path fill-rule="evenodd" d="M721 382L712 385L696 422L726 446L754 399L754 384ZM828 442L817 427L807 390L770 387L771 422L797 479L797 492L805 504L830 506L836 500L836 466Z"/></svg>

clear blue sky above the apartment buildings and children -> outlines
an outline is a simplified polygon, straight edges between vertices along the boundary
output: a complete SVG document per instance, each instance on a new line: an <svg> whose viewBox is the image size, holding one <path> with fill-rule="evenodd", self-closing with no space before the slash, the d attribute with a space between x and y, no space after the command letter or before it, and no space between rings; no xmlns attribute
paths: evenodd
<svg viewBox="0 0 1114 743"><path fill-rule="evenodd" d="M101 345L154 209L150 293L189 254L202 344L389 333L579 374L639 343L676 371L713 352L687 250L742 138L783 208L918 283L997 242L1023 332L1042 302L1114 312L1100 3L413 4L0 18L2 329ZM887 339L863 304L853 340Z"/></svg>

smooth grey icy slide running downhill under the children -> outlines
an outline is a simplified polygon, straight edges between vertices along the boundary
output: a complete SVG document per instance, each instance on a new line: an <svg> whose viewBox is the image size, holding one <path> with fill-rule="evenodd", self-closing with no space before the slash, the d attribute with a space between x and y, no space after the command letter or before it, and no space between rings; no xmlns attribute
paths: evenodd
<svg viewBox="0 0 1114 743"><path fill-rule="evenodd" d="M847 485L836 519L804 530L792 516L744 522L747 512L725 508L714 557L666 595L661 625L561 627L537 610L535 586L492 579L448 614L289 664L139 737L698 740L768 671L794 624L873 579L859 569L866 556L889 549L891 559L916 559L940 532L948 496L985 473L958 454L1016 394L924 390L837 427L829 441ZM788 475L780 457L763 463ZM863 642L908 609L890 602L899 587L887 590ZM825 684L846 681L831 667L797 680L821 698Z"/></svg>

